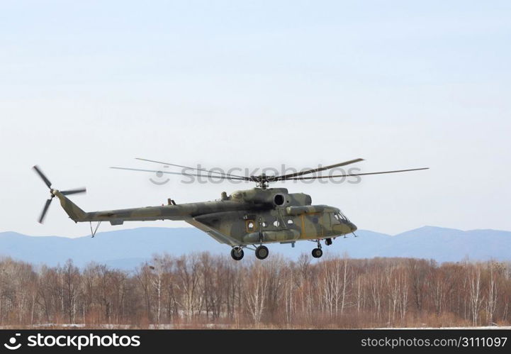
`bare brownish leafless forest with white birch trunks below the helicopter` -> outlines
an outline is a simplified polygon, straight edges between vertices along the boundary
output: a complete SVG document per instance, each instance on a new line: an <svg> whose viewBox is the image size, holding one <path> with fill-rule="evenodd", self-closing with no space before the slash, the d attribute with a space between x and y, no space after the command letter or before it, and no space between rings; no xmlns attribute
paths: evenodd
<svg viewBox="0 0 511 354"><path fill-rule="evenodd" d="M379 328L510 325L511 263L155 256L132 272L0 261L0 326Z"/></svg>

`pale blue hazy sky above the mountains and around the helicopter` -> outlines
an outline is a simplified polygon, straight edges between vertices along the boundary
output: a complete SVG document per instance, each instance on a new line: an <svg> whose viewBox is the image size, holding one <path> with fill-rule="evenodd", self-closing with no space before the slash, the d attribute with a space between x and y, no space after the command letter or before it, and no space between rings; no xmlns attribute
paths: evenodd
<svg viewBox="0 0 511 354"><path fill-rule="evenodd" d="M36 223L35 163L55 187L86 185L88 211L240 187L107 168L147 167L139 156L429 166L285 186L374 231L511 230L510 18L509 1L1 1L0 231L87 232L57 203Z"/></svg>

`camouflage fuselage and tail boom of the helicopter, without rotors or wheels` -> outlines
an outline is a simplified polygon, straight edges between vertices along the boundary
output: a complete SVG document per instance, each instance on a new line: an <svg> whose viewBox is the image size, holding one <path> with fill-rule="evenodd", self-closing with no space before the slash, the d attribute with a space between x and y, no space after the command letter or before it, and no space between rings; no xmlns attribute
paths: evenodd
<svg viewBox="0 0 511 354"><path fill-rule="evenodd" d="M225 192L215 201L147 206L134 209L85 212L56 189L51 193L74 222L182 220L220 243L238 248L264 243L331 239L356 231L342 212L327 205L312 205L308 194L286 188L253 188Z"/></svg>

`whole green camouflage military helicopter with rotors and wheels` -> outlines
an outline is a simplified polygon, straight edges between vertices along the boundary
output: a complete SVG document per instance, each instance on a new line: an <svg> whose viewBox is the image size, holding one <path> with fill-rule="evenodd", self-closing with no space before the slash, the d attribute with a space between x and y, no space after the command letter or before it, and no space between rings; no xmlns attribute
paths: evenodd
<svg viewBox="0 0 511 354"><path fill-rule="evenodd" d="M238 190L232 192L230 195L226 192L222 192L220 199L215 201L176 204L174 200L168 199L168 204L162 206L86 212L67 198L67 196L71 194L86 192L85 188L66 191L54 189L52 188L50 180L43 174L40 167L35 165L33 169L50 189L50 199L47 199L43 207L39 222L43 223L52 199L57 197L60 199L62 208L72 221L75 223L89 221L89 223L91 223L91 234L93 237L102 221L109 221L111 225L122 225L125 221L182 220L206 232L219 243L230 245L232 248L230 255L234 260L241 260L243 258L243 250L245 248L254 250L256 258L264 260L269 255L266 244L290 243L294 247L294 243L298 240L312 240L315 242L317 247L312 250L312 255L314 258L320 258L323 254L321 240L325 240L326 245L332 245L332 240L336 237L354 233L354 231L356 231L354 223L349 221L347 216L342 214L342 211L335 206L313 205L312 198L308 194L289 193L286 188L269 188L269 184L289 180L381 175L427 170L429 168L422 167L409 170L357 174L346 173L333 176L314 175L318 172L351 165L364 160L357 158L335 165L303 170L287 175L262 174L247 177L155 160L138 160L184 167L191 171L194 170L195 172L162 172L126 167L111 168L255 182L256 187ZM205 172L207 172L208 175L204 175ZM92 229L93 221L98 221L94 231Z"/></svg>

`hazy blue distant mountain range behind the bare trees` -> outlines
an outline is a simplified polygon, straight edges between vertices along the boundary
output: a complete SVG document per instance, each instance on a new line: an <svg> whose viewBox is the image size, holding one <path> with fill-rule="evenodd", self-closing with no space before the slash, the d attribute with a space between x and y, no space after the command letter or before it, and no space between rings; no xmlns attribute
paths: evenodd
<svg viewBox="0 0 511 354"><path fill-rule="evenodd" d="M453 228L425 226L389 236L372 231L356 231L357 236L336 238L333 245L323 246L325 255L352 258L411 257L438 262L470 260L511 260L511 232L497 230L461 231ZM314 243L269 245L270 256L276 253L296 259L314 248ZM155 253L182 255L193 252L228 255L230 247L221 245L195 228L133 228L66 238L58 236L26 236L21 233L0 233L0 256L33 264L57 265L71 258L76 265L89 262L131 270ZM245 258L254 258L247 250Z"/></svg>

